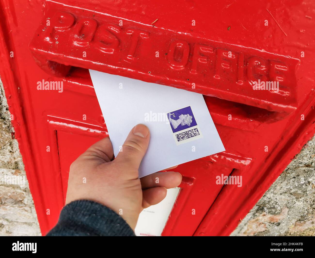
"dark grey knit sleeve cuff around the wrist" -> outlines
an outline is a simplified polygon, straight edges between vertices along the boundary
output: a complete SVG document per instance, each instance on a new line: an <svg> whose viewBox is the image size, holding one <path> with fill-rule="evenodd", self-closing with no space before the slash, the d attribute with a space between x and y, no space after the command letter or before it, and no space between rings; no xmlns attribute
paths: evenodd
<svg viewBox="0 0 315 258"><path fill-rule="evenodd" d="M63 207L57 225L47 236L135 236L135 233L112 209L79 200Z"/></svg>

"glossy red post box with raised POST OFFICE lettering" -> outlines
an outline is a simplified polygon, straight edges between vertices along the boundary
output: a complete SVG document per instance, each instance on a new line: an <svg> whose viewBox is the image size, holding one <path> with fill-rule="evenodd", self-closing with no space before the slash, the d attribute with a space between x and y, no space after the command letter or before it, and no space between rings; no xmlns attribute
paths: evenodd
<svg viewBox="0 0 315 258"><path fill-rule="evenodd" d="M0 1L0 75L43 234L70 164L108 135L88 69L204 95L226 151L175 169L163 235L229 235L314 135L315 3L231 2Z"/></svg>

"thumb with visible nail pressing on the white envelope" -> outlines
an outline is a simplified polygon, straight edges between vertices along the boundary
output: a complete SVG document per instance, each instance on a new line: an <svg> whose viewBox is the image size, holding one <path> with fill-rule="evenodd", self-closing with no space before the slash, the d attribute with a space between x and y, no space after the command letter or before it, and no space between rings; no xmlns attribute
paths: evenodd
<svg viewBox="0 0 315 258"><path fill-rule="evenodd" d="M115 162L127 164L128 168L138 170L141 160L146 154L149 140L149 129L144 124L137 124L127 136Z"/></svg>

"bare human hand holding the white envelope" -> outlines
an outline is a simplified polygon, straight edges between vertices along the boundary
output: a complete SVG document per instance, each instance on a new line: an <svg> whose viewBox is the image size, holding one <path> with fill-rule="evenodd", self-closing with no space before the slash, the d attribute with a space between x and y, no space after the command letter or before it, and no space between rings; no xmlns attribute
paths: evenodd
<svg viewBox="0 0 315 258"><path fill-rule="evenodd" d="M140 212L161 202L166 189L178 186L182 180L177 172L138 178L149 140L149 129L137 124L115 159L109 137L89 147L70 166L66 204L82 199L98 202L121 215L135 230Z"/></svg>

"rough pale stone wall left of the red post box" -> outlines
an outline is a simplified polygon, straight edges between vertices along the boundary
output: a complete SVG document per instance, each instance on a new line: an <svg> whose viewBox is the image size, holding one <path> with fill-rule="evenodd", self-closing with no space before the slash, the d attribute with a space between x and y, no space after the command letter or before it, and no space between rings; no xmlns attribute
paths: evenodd
<svg viewBox="0 0 315 258"><path fill-rule="evenodd" d="M0 81L0 236L38 236L36 211L10 121ZM20 182L14 181L17 178Z"/></svg>

